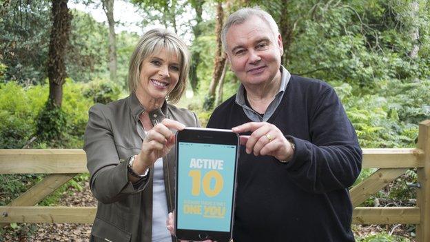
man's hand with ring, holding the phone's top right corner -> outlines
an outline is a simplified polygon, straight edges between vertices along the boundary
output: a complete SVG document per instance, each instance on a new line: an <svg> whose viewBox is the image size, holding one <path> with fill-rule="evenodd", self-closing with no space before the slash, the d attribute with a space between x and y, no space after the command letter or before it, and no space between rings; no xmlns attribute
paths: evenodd
<svg viewBox="0 0 430 242"><path fill-rule="evenodd" d="M246 145L246 152L255 156L271 155L280 161L289 161L294 151L291 144L278 127L272 123L249 122L232 128L235 133L252 132L250 136L241 135L240 145Z"/></svg>

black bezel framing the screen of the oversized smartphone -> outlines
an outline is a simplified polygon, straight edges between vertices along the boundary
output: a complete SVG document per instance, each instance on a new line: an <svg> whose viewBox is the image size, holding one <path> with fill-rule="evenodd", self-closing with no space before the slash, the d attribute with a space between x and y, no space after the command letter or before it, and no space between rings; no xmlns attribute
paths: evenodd
<svg viewBox="0 0 430 242"><path fill-rule="evenodd" d="M174 216L174 234L176 239L203 241L205 239L212 239L212 241L230 241L232 239L233 224L234 224L234 207L236 201L236 178L238 167L239 155L239 136L232 132L232 130L221 130L212 128L185 128L184 130L176 132L176 174L178 174L178 144L179 142L190 143L211 143L223 145L236 145L236 157L234 164L234 179L233 179L233 194L232 194L232 214L230 216L230 229L229 232L212 231L212 230L183 230L176 227L178 216ZM176 188L178 188L178 177L176 176ZM178 206L178 194L175 190L175 208Z"/></svg>

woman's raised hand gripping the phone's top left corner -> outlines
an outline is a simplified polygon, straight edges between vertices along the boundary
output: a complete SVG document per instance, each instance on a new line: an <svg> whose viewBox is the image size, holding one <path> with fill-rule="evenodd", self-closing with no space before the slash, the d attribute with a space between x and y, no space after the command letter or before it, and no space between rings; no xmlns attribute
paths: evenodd
<svg viewBox="0 0 430 242"><path fill-rule="evenodd" d="M134 172L142 174L154 162L164 157L175 143L174 133L170 129L183 130L185 125L172 119L163 119L154 128L150 129L142 143L141 152L133 164Z"/></svg>

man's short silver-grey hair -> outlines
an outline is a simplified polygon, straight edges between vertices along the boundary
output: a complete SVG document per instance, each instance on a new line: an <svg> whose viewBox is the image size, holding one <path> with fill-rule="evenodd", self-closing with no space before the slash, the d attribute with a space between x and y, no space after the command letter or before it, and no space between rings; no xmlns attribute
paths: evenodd
<svg viewBox="0 0 430 242"><path fill-rule="evenodd" d="M221 42L223 43L223 48L225 51L227 51L227 32L229 28L244 23L252 16L259 17L265 21L270 26L270 29L274 34L274 38L276 39L276 36L279 34L279 28L272 15L270 15L265 10L262 10L258 6L254 8L241 8L240 10L230 14L223 27L223 32L221 32Z"/></svg>

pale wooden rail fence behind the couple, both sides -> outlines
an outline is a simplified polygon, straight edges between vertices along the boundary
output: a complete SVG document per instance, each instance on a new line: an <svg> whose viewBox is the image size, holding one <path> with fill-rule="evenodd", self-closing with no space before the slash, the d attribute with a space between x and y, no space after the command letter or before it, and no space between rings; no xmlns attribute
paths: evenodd
<svg viewBox="0 0 430 242"><path fill-rule="evenodd" d="M363 149L362 168L378 168L351 188L356 224L416 224L416 241L430 241L430 120L419 126L418 148ZM357 207L409 168L417 168L416 207ZM0 206L8 223L92 223L96 207L34 206L76 174L88 172L83 150L0 150L0 174L48 173L42 181Z"/></svg>

